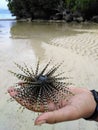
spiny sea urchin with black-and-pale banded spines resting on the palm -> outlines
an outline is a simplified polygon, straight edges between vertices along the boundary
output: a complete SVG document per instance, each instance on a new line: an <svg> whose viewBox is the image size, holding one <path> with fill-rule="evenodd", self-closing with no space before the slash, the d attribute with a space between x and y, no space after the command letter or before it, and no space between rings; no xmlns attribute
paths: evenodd
<svg viewBox="0 0 98 130"><path fill-rule="evenodd" d="M54 65L48 70L49 61L41 72L39 72L39 61L35 72L32 68L28 68L26 64L24 67L17 63L15 65L23 72L23 74L20 74L10 71L22 80L22 85L17 84L17 97L32 107L36 104L36 110L40 111L40 107L43 105L44 111L48 111L49 101L57 106L62 99L67 99L72 95L68 89L68 86L72 84L67 81L69 78L60 77L63 72L56 74L62 63ZM23 106L25 106L25 102L22 103Z"/></svg>

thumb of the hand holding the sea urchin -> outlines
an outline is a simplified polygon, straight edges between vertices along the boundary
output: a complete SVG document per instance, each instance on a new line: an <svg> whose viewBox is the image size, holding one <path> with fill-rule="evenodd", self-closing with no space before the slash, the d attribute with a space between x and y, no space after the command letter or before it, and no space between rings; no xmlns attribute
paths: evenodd
<svg viewBox="0 0 98 130"><path fill-rule="evenodd" d="M68 105L56 111L41 114L36 120L35 125L43 123L54 124L63 121L78 119L77 110L75 107Z"/></svg>

